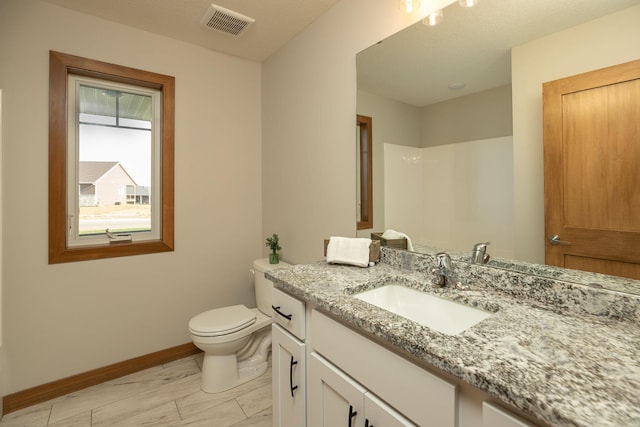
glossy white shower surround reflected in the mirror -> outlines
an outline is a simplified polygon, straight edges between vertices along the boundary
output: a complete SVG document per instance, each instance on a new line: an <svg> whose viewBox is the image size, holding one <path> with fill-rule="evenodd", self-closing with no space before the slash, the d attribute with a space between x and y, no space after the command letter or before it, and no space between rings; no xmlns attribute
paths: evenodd
<svg viewBox="0 0 640 427"><path fill-rule="evenodd" d="M513 138L435 147L385 144L386 228L413 243L468 252L491 242L513 258Z"/></svg>

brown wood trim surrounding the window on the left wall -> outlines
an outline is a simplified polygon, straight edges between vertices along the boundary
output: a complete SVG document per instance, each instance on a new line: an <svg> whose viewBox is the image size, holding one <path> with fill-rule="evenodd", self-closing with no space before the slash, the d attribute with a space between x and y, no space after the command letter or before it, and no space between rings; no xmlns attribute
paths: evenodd
<svg viewBox="0 0 640 427"><path fill-rule="evenodd" d="M67 247L67 77L96 77L162 91L162 219L159 240ZM175 78L49 52L49 264L168 252L174 249Z"/></svg>

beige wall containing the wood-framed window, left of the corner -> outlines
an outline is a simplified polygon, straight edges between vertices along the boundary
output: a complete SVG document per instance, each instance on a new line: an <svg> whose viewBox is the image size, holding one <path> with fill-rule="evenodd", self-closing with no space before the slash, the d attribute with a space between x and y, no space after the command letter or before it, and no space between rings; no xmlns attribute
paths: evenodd
<svg viewBox="0 0 640 427"><path fill-rule="evenodd" d="M47 264L48 55L176 78L175 252ZM0 1L3 394L190 342L206 309L253 306L261 65L37 0Z"/></svg>

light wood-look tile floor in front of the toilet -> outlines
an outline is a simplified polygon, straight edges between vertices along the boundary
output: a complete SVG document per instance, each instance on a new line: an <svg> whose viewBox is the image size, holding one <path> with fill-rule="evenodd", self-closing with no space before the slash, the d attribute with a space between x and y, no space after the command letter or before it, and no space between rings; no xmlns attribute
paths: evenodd
<svg viewBox="0 0 640 427"><path fill-rule="evenodd" d="M229 391L200 390L202 354L5 415L0 427L271 427L271 368Z"/></svg>

